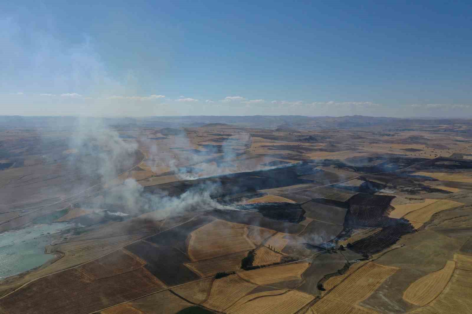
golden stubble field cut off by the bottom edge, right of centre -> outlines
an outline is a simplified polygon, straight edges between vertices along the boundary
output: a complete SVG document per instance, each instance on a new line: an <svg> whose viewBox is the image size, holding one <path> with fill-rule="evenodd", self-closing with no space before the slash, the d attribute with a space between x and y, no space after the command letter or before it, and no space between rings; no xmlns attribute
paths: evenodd
<svg viewBox="0 0 472 314"><path fill-rule="evenodd" d="M270 291L271 294L275 294L276 291ZM303 306L308 304L314 299L310 294L303 293L300 291L289 291L279 295L268 295L269 292L262 292L265 296L255 297L256 294L244 297L247 301L240 306L231 306L227 313L228 314L292 314L300 310ZM239 303L239 302L238 302Z"/></svg>

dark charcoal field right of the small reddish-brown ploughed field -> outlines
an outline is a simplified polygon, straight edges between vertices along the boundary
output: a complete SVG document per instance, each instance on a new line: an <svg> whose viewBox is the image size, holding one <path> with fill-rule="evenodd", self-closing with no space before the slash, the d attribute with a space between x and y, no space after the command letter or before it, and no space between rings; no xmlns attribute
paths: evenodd
<svg viewBox="0 0 472 314"><path fill-rule="evenodd" d="M135 242L126 249L147 262L144 266L154 276L169 286L178 285L200 278L184 263L190 260L174 247L157 247L146 241Z"/></svg>

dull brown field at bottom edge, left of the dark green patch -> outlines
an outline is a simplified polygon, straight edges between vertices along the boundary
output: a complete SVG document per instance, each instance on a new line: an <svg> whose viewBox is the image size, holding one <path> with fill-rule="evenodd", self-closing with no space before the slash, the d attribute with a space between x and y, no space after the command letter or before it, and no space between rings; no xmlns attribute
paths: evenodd
<svg viewBox="0 0 472 314"><path fill-rule="evenodd" d="M145 314L177 313L192 306L169 290L139 298L129 302L129 305Z"/></svg>

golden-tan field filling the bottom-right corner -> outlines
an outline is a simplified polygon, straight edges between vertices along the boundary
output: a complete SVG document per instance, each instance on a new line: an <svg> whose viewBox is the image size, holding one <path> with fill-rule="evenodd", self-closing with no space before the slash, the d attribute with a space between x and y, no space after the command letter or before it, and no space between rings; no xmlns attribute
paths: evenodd
<svg viewBox="0 0 472 314"><path fill-rule="evenodd" d="M437 299L411 314L470 314L472 309L472 273L456 269L449 284Z"/></svg>

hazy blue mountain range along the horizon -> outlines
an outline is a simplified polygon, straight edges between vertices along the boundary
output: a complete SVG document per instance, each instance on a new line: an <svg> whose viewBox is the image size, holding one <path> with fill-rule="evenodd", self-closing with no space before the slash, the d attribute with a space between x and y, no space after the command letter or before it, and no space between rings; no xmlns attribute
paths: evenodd
<svg viewBox="0 0 472 314"><path fill-rule="evenodd" d="M251 128L363 128L408 127L419 125L472 124L472 120L440 118L391 118L371 116L148 116L148 117L75 117L75 116L0 116L1 128L70 128L80 122L101 122L115 127L200 127L206 124L230 124Z"/></svg>

